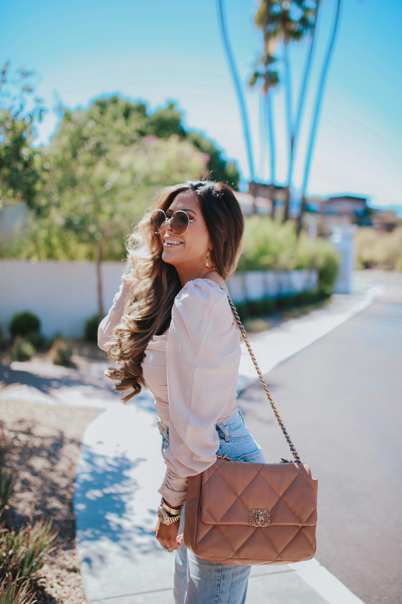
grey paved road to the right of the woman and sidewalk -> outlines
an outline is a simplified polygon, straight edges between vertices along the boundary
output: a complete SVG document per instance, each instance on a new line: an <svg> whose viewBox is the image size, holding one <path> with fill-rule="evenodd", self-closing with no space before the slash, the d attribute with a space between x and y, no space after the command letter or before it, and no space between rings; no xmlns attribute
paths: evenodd
<svg viewBox="0 0 402 604"><path fill-rule="evenodd" d="M316 557L366 604L402 602L402 275L372 306L267 376L319 479ZM258 360L258 359L257 359ZM238 399L269 461L289 458L259 384Z"/></svg>

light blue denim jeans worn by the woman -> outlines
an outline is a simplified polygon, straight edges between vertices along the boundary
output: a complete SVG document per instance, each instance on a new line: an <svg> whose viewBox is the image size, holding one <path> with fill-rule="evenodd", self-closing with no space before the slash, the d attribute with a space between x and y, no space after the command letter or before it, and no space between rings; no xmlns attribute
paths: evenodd
<svg viewBox="0 0 402 604"><path fill-rule="evenodd" d="M169 432L159 424L162 452L169 446ZM237 461L265 463L263 452L244 426L240 411L216 426L219 435L217 455ZM179 535L184 528L184 510ZM174 552L173 595L175 604L244 604L251 567L217 564L187 551L183 544Z"/></svg>

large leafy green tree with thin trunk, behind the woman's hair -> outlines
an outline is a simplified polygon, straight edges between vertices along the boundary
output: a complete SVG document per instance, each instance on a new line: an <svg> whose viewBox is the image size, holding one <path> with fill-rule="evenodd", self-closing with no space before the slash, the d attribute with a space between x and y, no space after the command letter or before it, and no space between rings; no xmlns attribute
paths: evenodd
<svg viewBox="0 0 402 604"><path fill-rule="evenodd" d="M60 112L51 144L37 149L35 219L20 257L95 261L103 316L101 262L124 257L124 239L161 188L205 175L219 150L185 133L173 105L148 116L144 104L110 97Z"/></svg>

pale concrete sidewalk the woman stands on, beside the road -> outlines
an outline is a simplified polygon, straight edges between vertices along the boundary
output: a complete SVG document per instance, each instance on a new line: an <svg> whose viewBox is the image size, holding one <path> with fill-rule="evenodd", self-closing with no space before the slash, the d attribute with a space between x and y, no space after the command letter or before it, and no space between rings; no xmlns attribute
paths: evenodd
<svg viewBox="0 0 402 604"><path fill-rule="evenodd" d="M380 290L335 296L330 306L250 338L266 374L284 359L365 309ZM251 371L252 369L252 371ZM255 381L242 355L239 390ZM153 397L105 405L88 427L77 468L74 510L77 551L88 602L173 604L173 556L153 535L165 466L155 425ZM247 602L357 604L362 602L316 560L281 567L253 567Z"/></svg>

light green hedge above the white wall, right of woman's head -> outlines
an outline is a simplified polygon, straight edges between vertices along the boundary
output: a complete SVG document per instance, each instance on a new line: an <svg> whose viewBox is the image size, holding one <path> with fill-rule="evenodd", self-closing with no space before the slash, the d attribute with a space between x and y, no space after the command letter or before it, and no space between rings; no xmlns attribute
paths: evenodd
<svg viewBox="0 0 402 604"><path fill-rule="evenodd" d="M292 222L279 224L267 216L257 215L246 218L239 271L316 269L319 289L330 294L338 263L338 254L332 243L324 239L308 239L305 233L298 239Z"/></svg>

